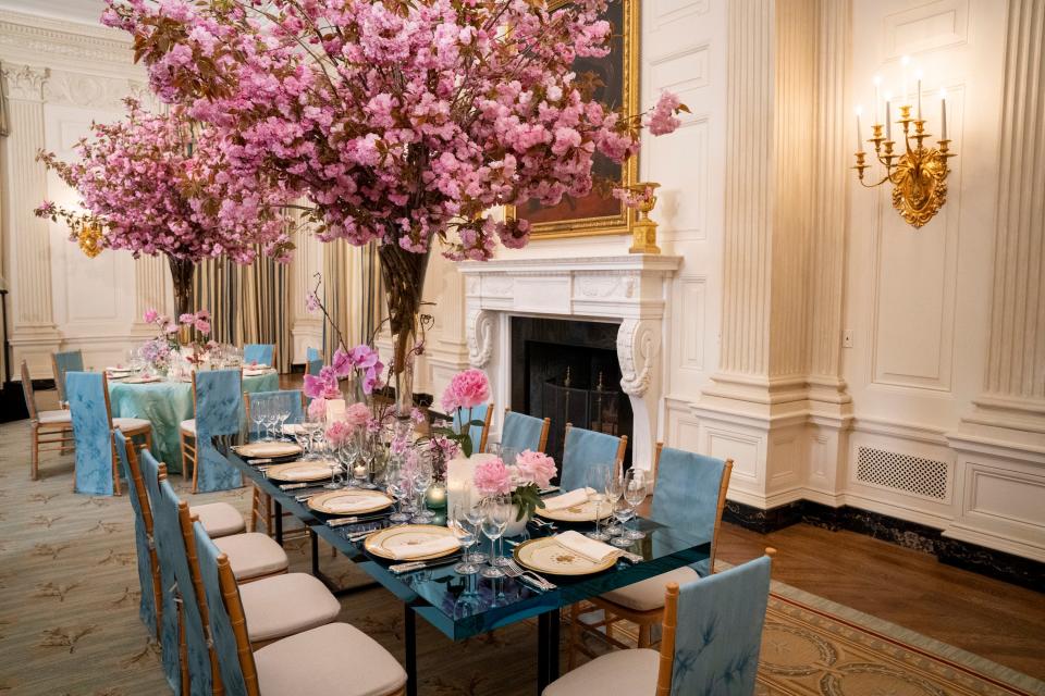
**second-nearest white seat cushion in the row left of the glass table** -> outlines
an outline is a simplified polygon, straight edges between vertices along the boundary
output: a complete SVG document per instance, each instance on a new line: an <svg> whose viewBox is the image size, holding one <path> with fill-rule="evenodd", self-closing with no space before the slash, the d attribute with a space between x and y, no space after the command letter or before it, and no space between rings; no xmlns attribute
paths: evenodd
<svg viewBox="0 0 1045 696"><path fill-rule="evenodd" d="M308 573L287 573L239 588L251 643L271 641L325 625L337 618L341 602Z"/></svg>

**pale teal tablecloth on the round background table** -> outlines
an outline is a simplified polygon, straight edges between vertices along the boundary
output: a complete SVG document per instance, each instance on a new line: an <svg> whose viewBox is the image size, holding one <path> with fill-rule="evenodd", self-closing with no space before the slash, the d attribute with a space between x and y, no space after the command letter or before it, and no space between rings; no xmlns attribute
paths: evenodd
<svg viewBox="0 0 1045 696"><path fill-rule="evenodd" d="M280 375L269 372L243 378L243 390L275 391ZM182 471L182 448L179 424L193 418L193 385L187 382L151 382L149 384L109 383L109 401L113 418L144 418L152 422L152 453L167 463L171 473Z"/></svg>

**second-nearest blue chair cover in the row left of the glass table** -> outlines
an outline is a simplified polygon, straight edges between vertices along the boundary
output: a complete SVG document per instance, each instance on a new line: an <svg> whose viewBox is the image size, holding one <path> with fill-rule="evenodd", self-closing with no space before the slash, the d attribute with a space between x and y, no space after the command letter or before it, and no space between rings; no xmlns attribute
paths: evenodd
<svg viewBox="0 0 1045 696"><path fill-rule="evenodd" d="M151 455L143 456L143 459L146 458L151 459ZM163 579L163 669L167 673L167 681L170 682L174 693L180 693L177 625L179 616L181 616L181 623L185 631L185 643L188 647L189 693L210 694L212 682L210 652L207 649L204 622L199 613L196 592L193 587L188 555L185 551L185 538L182 536L179 502L177 494L174 493L170 482L165 480L159 482L157 496L152 498L152 511L156 515L156 547L160 557L160 570ZM180 614L179 606L174 602L175 597L181 599ZM173 618L173 622L169 617ZM172 627L173 632L171 631ZM173 661L168 655L169 647L173 648Z"/></svg>

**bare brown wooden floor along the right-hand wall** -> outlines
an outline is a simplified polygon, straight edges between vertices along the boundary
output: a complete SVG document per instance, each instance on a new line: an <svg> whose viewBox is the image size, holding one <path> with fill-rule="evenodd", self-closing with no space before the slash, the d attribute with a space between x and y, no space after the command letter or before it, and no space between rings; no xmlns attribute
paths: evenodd
<svg viewBox="0 0 1045 696"><path fill-rule="evenodd" d="M777 549L773 579L1045 680L1045 595L855 532L723 523L718 558Z"/></svg>

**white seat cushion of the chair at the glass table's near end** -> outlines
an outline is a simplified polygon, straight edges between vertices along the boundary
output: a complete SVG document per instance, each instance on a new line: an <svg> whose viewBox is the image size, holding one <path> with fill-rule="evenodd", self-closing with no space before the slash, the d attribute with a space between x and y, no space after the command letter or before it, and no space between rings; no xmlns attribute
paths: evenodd
<svg viewBox="0 0 1045 696"><path fill-rule="evenodd" d="M661 655L656 650L617 650L586 662L548 685L543 696L627 694L652 696ZM262 686L263 691L263 686Z"/></svg>

